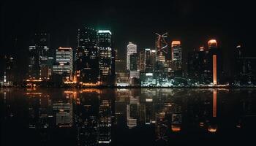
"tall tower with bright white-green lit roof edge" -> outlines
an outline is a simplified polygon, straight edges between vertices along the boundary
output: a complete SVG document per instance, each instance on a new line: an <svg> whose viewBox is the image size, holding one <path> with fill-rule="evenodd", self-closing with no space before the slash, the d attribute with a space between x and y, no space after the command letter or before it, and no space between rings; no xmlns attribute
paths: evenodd
<svg viewBox="0 0 256 146"><path fill-rule="evenodd" d="M102 85L113 85L115 78L115 51L112 46L112 34L109 30L99 30L97 37L100 81Z"/></svg>

